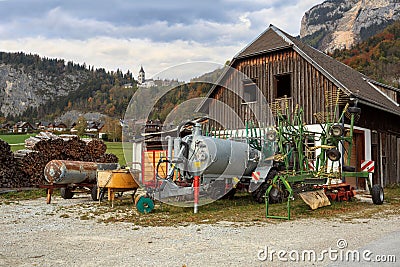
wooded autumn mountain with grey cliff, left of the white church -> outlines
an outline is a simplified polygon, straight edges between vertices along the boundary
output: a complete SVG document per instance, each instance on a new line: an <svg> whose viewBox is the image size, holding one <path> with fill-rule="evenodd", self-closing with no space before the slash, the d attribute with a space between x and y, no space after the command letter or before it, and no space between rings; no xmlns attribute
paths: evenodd
<svg viewBox="0 0 400 267"><path fill-rule="evenodd" d="M0 117L9 120L53 120L72 110L122 117L136 89L129 71L0 52Z"/></svg>

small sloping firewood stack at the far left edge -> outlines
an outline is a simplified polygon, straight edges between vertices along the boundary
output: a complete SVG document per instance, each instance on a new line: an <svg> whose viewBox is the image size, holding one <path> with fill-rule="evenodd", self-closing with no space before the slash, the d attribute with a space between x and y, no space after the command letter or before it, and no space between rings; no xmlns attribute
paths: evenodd
<svg viewBox="0 0 400 267"><path fill-rule="evenodd" d="M24 182L23 174L14 158L10 145L0 140L0 187L24 187L29 184Z"/></svg>

